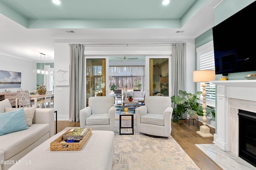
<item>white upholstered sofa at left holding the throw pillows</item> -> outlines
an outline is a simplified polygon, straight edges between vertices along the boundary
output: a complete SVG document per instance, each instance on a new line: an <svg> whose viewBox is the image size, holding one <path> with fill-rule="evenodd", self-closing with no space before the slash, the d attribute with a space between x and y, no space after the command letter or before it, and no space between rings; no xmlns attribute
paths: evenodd
<svg viewBox="0 0 256 170"><path fill-rule="evenodd" d="M0 115L4 114L6 116L7 114L11 114L11 112L4 113L4 111L8 108L10 108L10 110L15 109L11 108L8 99L0 101ZM31 109L28 108L27 110ZM4 121L0 121L1 124L4 124ZM6 127L0 129L1 133L3 133L3 129L6 129ZM0 160L4 160L4 162L1 162L1 164L4 164L0 166L0 170L7 170L14 163L16 163L16 161L20 160L20 158L28 154L28 152L42 144L53 135L54 109L35 109L34 117L32 117L32 125L29 126L26 130L20 130L0 135Z"/></svg>

